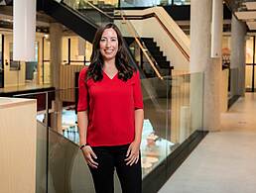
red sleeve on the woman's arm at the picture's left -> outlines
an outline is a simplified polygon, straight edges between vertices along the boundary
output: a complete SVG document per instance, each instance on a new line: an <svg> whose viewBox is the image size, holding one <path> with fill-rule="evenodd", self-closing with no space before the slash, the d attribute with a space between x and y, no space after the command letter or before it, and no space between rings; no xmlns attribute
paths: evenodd
<svg viewBox="0 0 256 193"><path fill-rule="evenodd" d="M88 90L85 82L85 75L86 75L87 68L84 67L81 69L78 78L78 104L77 104L77 111L86 111L88 107Z"/></svg>

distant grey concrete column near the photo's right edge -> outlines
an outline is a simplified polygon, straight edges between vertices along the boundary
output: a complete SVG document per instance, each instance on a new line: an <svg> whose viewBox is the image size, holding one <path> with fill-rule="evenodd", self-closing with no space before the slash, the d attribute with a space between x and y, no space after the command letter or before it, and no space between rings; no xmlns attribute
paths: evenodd
<svg viewBox="0 0 256 193"><path fill-rule="evenodd" d="M244 22L238 21L232 15L231 21L231 96L244 96L245 93L245 35Z"/></svg>

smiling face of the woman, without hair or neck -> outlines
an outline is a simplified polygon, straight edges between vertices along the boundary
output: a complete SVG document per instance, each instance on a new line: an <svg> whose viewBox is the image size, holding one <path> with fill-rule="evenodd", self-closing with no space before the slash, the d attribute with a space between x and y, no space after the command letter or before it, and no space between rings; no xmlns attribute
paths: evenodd
<svg viewBox="0 0 256 193"><path fill-rule="evenodd" d="M99 50L104 61L115 58L118 50L118 39L114 29L109 28L103 31L99 42Z"/></svg>

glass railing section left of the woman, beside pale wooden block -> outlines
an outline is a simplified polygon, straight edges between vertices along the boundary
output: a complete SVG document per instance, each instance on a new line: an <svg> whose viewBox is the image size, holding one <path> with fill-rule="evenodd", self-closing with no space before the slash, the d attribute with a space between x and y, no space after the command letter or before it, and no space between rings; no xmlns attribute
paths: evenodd
<svg viewBox="0 0 256 193"><path fill-rule="evenodd" d="M72 88L14 96L37 99L37 193L94 192L89 169L77 145L76 91ZM115 176L115 189L121 192L117 180Z"/></svg>

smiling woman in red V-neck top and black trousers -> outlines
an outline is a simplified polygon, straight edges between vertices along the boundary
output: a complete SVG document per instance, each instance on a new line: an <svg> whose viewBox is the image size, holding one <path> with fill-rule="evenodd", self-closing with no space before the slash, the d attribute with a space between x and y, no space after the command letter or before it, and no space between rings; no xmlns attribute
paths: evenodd
<svg viewBox="0 0 256 193"><path fill-rule="evenodd" d="M79 74L80 148L96 193L113 193L114 169L123 193L141 193L140 144L144 120L139 72L127 62L114 24L100 28L91 63Z"/></svg>

